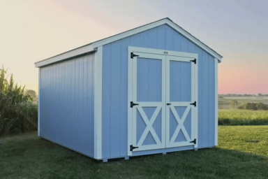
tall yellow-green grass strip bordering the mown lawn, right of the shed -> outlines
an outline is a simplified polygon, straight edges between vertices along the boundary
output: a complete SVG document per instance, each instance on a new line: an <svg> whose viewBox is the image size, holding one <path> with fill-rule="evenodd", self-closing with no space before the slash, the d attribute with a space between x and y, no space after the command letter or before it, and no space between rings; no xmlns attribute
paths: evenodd
<svg viewBox="0 0 268 179"><path fill-rule="evenodd" d="M218 110L219 125L268 125L268 110Z"/></svg>

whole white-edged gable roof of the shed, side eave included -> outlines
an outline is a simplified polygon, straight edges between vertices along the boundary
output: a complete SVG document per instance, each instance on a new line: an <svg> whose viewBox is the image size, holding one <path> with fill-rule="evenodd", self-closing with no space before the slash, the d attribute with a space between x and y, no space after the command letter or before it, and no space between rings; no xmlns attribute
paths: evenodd
<svg viewBox="0 0 268 179"><path fill-rule="evenodd" d="M72 57L76 57L76 56L82 55L84 53L96 52L96 50L98 49L99 46L105 45L107 43L111 43L113 41L118 41L121 38L125 38L127 36L132 36L134 34L142 32L142 31L146 31L146 30L152 29L154 27L158 27L158 26L160 26L162 24L168 24L175 31L178 31L181 35L185 36L190 41L195 43L195 45L198 45L200 48L202 48L202 50L205 50L210 55L212 55L213 57L218 59L218 62L221 62L221 59L223 58L221 55L219 55L216 51L212 50L207 45L202 43L200 40L198 40L198 38L195 38L192 34L188 33L188 31L186 31L186 30L182 29L181 27L179 27L179 25L175 24L172 20L170 20L170 18L166 17L166 18L164 18L162 20L151 22L149 24L145 24L145 25L137 27L135 29L124 31L124 32L122 32L120 34L116 34L114 36L103 38L103 39L101 39L99 41L95 41L95 42L89 43L87 45L83 45L83 46L81 46L79 48L69 50L67 52L61 53L61 54L56 55L54 57L50 57L48 59L43 59L40 62L36 62L35 65L36 65L36 67L41 67L41 66L45 66L45 65L48 65L48 64L59 62L59 61L64 60L64 59L69 59L69 58L72 58Z"/></svg>

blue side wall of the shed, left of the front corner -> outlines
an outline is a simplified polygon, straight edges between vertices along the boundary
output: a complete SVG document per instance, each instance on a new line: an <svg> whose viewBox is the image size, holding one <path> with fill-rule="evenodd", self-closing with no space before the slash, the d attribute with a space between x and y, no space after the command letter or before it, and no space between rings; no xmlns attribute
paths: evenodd
<svg viewBox="0 0 268 179"><path fill-rule="evenodd" d="M94 54L40 69L40 136L94 157Z"/></svg>

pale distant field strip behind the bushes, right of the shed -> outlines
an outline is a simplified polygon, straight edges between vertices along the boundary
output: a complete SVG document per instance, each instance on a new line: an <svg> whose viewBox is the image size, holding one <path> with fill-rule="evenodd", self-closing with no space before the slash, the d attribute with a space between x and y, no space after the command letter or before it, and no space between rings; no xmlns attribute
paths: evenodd
<svg viewBox="0 0 268 179"><path fill-rule="evenodd" d="M265 103L268 104L267 96L246 96L246 97L223 97L218 99L218 108L219 109L230 109L230 101L235 100L238 104L245 102L256 102L256 103ZM238 106L237 106L238 107Z"/></svg>

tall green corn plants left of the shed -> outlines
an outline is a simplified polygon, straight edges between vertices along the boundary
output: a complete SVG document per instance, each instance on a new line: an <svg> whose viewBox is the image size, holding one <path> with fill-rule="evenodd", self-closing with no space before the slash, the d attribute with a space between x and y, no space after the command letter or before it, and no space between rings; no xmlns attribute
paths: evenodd
<svg viewBox="0 0 268 179"><path fill-rule="evenodd" d="M34 125L29 121L30 118L24 115L27 108L22 108L21 103L31 103L33 101L29 94L24 94L24 88L14 84L12 74L8 80L7 69L5 70L3 67L0 69L0 136L15 131L24 132L22 126L26 123ZM37 112L35 118L37 120Z"/></svg>

